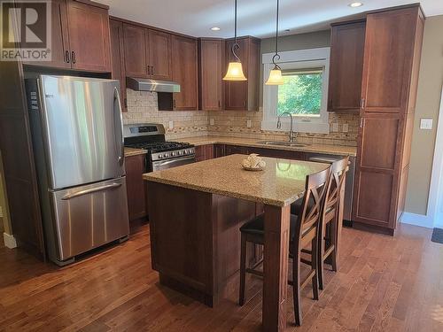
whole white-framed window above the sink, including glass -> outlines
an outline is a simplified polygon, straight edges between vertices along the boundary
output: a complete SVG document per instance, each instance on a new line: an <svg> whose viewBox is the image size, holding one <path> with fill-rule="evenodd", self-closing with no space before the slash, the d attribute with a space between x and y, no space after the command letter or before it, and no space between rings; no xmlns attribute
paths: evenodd
<svg viewBox="0 0 443 332"><path fill-rule="evenodd" d="M290 117L294 116L294 130L298 132L328 134L327 112L329 80L329 48L280 52L278 66L282 68L284 84L263 84L263 120L261 129L287 131ZM263 54L263 81L273 68L273 53ZM282 115L282 128L276 127Z"/></svg>

